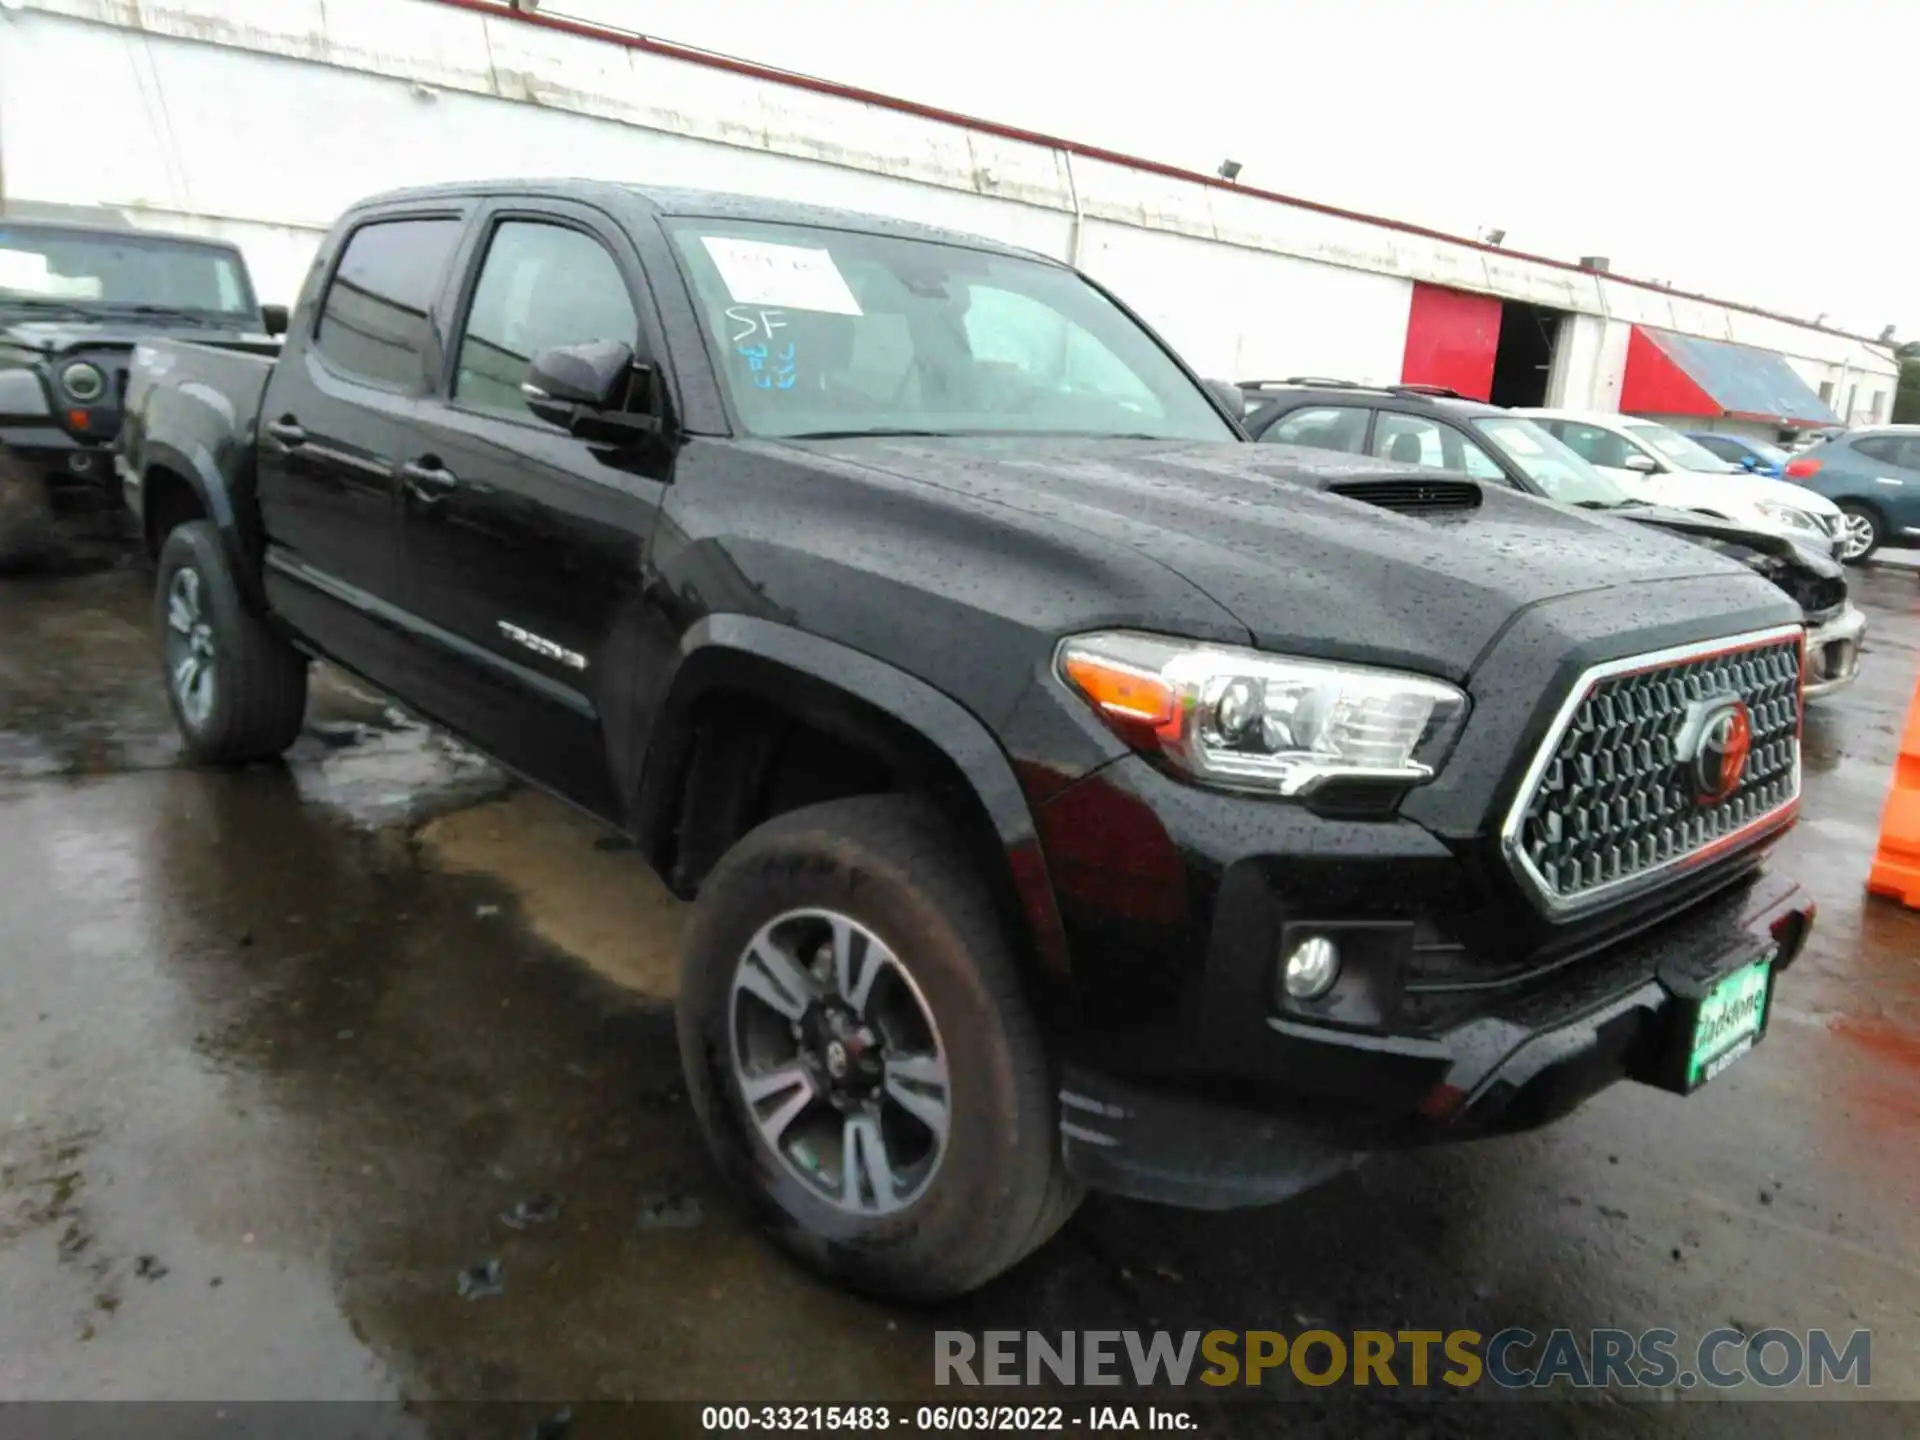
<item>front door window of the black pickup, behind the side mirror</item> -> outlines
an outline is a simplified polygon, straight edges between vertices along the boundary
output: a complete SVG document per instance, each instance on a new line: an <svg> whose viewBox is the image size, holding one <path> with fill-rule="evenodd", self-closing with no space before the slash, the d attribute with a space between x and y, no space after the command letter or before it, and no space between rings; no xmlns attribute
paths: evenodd
<svg viewBox="0 0 1920 1440"><path fill-rule="evenodd" d="M612 255L564 225L507 221L493 232L467 309L453 396L468 405L526 413L528 361L553 346L639 340L639 319Z"/></svg>

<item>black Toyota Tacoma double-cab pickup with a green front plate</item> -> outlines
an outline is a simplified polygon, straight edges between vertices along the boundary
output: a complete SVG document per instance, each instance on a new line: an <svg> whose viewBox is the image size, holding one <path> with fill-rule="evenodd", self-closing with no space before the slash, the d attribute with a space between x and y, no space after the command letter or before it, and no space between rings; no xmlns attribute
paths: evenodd
<svg viewBox="0 0 1920 1440"><path fill-rule="evenodd" d="M388 194L278 363L144 348L123 451L190 751L284 749L319 657L632 837L714 1154L860 1288L1692 1091L1812 922L1778 588L1248 444L987 240Z"/></svg>

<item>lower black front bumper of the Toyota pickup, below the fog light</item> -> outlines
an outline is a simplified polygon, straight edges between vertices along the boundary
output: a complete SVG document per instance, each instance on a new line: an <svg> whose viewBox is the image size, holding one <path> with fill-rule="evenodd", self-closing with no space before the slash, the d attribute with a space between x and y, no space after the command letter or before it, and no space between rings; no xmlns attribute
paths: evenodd
<svg viewBox="0 0 1920 1440"><path fill-rule="evenodd" d="M1258 1108L1169 1085L1062 1069L1062 1148L1092 1188L1200 1210L1273 1204L1377 1150L1530 1129L1619 1079L1674 1089L1692 1002L1778 947L1780 975L1805 947L1812 902L1759 876L1684 918L1584 956L1434 1035L1377 1035L1267 1016L1302 1079L1363 1069L1405 1096L1398 1112L1306 1092Z"/></svg>

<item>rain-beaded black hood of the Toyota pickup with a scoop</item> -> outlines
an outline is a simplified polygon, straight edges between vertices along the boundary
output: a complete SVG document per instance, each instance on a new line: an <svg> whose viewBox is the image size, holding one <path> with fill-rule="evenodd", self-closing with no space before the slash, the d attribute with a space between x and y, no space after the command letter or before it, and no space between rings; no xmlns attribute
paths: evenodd
<svg viewBox="0 0 1920 1440"><path fill-rule="evenodd" d="M1730 582L1730 609L1755 601L1751 574L1690 540L1331 451L1050 438L766 444L1125 545L1198 588L1263 649L1294 655L1459 680L1544 601L1699 576ZM1367 482L1453 486L1478 505L1400 513L1336 493Z"/></svg>

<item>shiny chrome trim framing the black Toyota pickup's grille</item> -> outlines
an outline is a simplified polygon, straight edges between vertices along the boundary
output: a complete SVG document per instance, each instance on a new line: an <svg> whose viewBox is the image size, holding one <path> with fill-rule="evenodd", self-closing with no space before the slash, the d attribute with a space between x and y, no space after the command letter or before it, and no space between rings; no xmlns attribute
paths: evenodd
<svg viewBox="0 0 1920 1440"><path fill-rule="evenodd" d="M1561 703L1561 708L1553 716L1553 724L1548 728L1546 737L1540 741L1540 749L1534 753L1532 762L1526 768L1526 776L1521 780L1515 791L1513 806L1507 810L1507 818L1500 829L1500 845L1507 858L1507 864L1521 877L1523 887L1532 895L1534 902L1555 918L1565 918L1594 906L1605 904L1607 900L1619 899L1626 893L1642 891L1653 885L1659 877L1670 876L1676 870L1684 870L1693 864L1701 864L1715 854L1724 854L1726 851L1738 847L1743 839L1759 839L1764 831L1784 826L1793 812L1799 808L1801 795L1801 718L1803 718L1803 689L1807 684L1807 653L1805 653L1807 630L1805 626L1776 626L1772 630L1751 630L1741 636L1728 636L1724 639L1701 641L1695 645L1676 645L1665 651L1649 651L1645 655L1628 655L1619 660L1607 660L1596 664L1580 674ZM1734 829L1724 833L1713 833L1699 843L1690 845L1684 851L1667 854L1653 864L1634 868L1628 874L1605 879L1601 883L1588 885L1574 893L1563 893L1559 887L1549 883L1549 879L1534 864L1532 854L1526 847L1526 822L1532 818L1534 803L1540 797L1540 787L1548 770L1561 758L1561 747L1567 741L1567 732L1572 728L1586 705L1588 697L1609 680L1624 680L1638 674L1647 674L1653 670L1672 670L1678 666L1713 660L1722 655L1738 655L1741 651L1768 649L1786 643L1793 643L1793 666L1795 666L1795 687L1793 687L1793 726L1791 733L1784 741L1789 747L1788 772L1782 776L1786 780L1786 797L1770 803L1764 810L1741 820ZM1745 695L1743 695L1745 697ZM1676 722L1678 728L1678 722ZM1755 739L1755 755L1761 753L1761 737ZM1736 806L1743 804L1749 797L1736 795L1724 804ZM1718 810L1718 806L1715 806ZM1701 810L1701 814L1709 814Z"/></svg>

